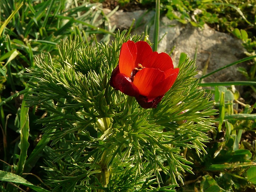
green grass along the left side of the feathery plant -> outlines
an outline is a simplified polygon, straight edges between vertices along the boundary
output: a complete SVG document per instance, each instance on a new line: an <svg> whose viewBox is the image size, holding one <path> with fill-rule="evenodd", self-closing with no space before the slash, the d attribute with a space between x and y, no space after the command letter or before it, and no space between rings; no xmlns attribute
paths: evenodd
<svg viewBox="0 0 256 192"><path fill-rule="evenodd" d="M61 39L77 36L79 42L87 45L108 42L115 29L101 4L88 2L1 0L0 13L0 102L3 101L0 149L4 151L0 154L1 170L22 176L24 171L39 167L37 161L49 142L48 139L40 140L41 126L34 123L44 117L44 112L38 112L36 107L25 107L30 90L26 88L30 79L23 75L25 68L35 68L34 58L41 53L50 53L58 59L57 45ZM96 37L97 34L100 35ZM39 140L41 142L36 145ZM17 179L13 182L25 182L14 175L9 176ZM17 189L15 186L4 183L0 190L13 191Z"/></svg>

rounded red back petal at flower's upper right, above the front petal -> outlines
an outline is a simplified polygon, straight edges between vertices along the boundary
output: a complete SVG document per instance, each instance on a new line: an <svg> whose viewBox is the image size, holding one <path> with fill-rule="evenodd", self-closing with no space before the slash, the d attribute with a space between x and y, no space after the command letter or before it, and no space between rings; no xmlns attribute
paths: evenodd
<svg viewBox="0 0 256 192"><path fill-rule="evenodd" d="M173 63L171 57L167 53L151 53L143 66L148 68L160 69L161 71L166 71L168 69L173 69Z"/></svg>

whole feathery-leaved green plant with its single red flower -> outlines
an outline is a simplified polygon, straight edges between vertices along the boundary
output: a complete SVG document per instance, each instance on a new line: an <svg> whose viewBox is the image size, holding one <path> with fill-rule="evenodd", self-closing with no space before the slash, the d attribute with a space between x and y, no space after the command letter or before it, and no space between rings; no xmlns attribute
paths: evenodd
<svg viewBox="0 0 256 192"><path fill-rule="evenodd" d="M139 36L112 45L59 46L59 59L36 58L26 102L48 112L43 137L53 191L175 191L193 174L185 148L206 153L211 95L197 89L194 62L174 68ZM121 53L120 53L121 50Z"/></svg>

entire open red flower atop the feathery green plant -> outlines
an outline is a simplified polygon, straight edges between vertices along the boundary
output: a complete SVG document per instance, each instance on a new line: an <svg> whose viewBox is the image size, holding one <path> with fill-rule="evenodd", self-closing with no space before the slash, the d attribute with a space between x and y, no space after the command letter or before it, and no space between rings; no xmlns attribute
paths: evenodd
<svg viewBox="0 0 256 192"><path fill-rule="evenodd" d="M123 43L119 64L112 71L110 85L135 97L143 108L156 108L179 73L171 57L153 52L145 41Z"/></svg>

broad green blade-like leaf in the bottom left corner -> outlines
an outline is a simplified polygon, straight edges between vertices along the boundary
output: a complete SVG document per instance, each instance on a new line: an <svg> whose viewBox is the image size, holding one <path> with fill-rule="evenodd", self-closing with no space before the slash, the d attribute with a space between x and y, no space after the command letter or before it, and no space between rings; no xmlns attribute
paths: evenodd
<svg viewBox="0 0 256 192"><path fill-rule="evenodd" d="M19 183L22 185L25 185L27 187L30 187L31 189L37 191L37 192L50 192L46 189L43 189L41 187L35 186L29 181L25 180L21 176L18 176L16 174L7 172L7 171L1 171L0 170L0 181L7 181L7 182L13 182L13 183Z"/></svg>

